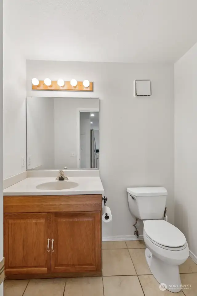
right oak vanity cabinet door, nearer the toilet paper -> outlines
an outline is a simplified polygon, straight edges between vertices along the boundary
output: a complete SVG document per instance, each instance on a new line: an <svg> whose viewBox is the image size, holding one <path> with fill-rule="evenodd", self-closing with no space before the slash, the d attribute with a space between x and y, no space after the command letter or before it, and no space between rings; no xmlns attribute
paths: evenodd
<svg viewBox="0 0 197 296"><path fill-rule="evenodd" d="M53 213L51 272L101 270L101 213Z"/></svg>

